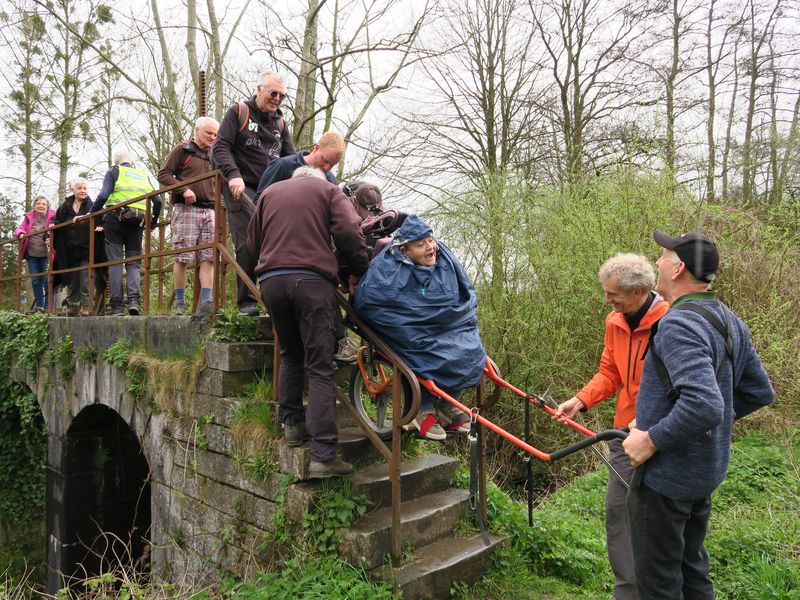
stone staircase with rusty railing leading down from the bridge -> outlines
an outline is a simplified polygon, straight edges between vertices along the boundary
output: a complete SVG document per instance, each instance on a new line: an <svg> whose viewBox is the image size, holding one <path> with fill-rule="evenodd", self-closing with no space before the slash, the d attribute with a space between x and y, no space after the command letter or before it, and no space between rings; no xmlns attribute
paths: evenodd
<svg viewBox="0 0 800 600"><path fill-rule="evenodd" d="M371 577L394 582L404 600L448 598L455 582L480 579L491 553L505 538L490 536L484 545L480 534L459 537L454 529L469 510L467 490L450 487L458 462L440 454L404 461L400 467L400 505L403 560L392 567L392 492L388 465L375 464L380 457L357 427L339 430L339 454L353 462L354 492L365 496L370 510L348 529L340 530L339 551ZM308 448L279 445L279 464L284 473L305 479ZM302 521L314 510L321 483L305 481L289 487L287 514Z"/></svg>

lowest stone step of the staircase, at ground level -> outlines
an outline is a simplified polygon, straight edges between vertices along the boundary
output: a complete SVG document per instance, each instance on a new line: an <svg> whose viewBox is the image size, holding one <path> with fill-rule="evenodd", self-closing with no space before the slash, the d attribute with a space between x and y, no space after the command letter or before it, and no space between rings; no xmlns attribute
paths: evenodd
<svg viewBox="0 0 800 600"><path fill-rule="evenodd" d="M412 561L397 569L384 565L370 575L393 581L403 600L449 598L455 582L473 583L483 576L489 556L505 539L490 535L485 546L480 534L445 538L419 548Z"/></svg>

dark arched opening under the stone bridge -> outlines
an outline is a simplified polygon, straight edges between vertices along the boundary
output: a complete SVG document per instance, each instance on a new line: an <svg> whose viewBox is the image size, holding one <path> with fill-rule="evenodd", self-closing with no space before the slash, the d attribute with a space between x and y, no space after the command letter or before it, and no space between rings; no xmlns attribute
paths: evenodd
<svg viewBox="0 0 800 600"><path fill-rule="evenodd" d="M118 412L86 406L50 447L48 590L115 569L147 568L150 466Z"/></svg>

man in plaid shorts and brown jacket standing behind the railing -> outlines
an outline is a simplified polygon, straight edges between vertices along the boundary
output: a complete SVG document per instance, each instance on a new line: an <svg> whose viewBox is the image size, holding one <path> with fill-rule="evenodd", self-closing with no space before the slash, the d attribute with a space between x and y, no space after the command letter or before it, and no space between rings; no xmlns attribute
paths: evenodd
<svg viewBox="0 0 800 600"><path fill-rule="evenodd" d="M217 137L219 123L211 117L200 117L194 124L194 139L176 145L167 156L158 181L161 185L174 185L211 171L209 150ZM214 180L204 179L191 186L172 192L172 247L189 248L214 241ZM186 267L197 256L200 277L200 305L197 314L209 316L213 312L211 286L214 264L211 248L175 255L172 276L175 286L173 314L186 314ZM195 291L196 293L196 291Z"/></svg>

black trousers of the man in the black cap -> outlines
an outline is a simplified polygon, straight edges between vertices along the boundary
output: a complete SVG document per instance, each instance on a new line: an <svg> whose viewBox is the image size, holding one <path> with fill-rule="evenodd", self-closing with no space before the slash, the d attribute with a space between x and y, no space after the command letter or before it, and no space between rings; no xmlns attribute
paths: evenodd
<svg viewBox="0 0 800 600"><path fill-rule="evenodd" d="M645 468L636 470L627 499L640 600L713 600L703 545L711 499L662 496L642 481Z"/></svg>

